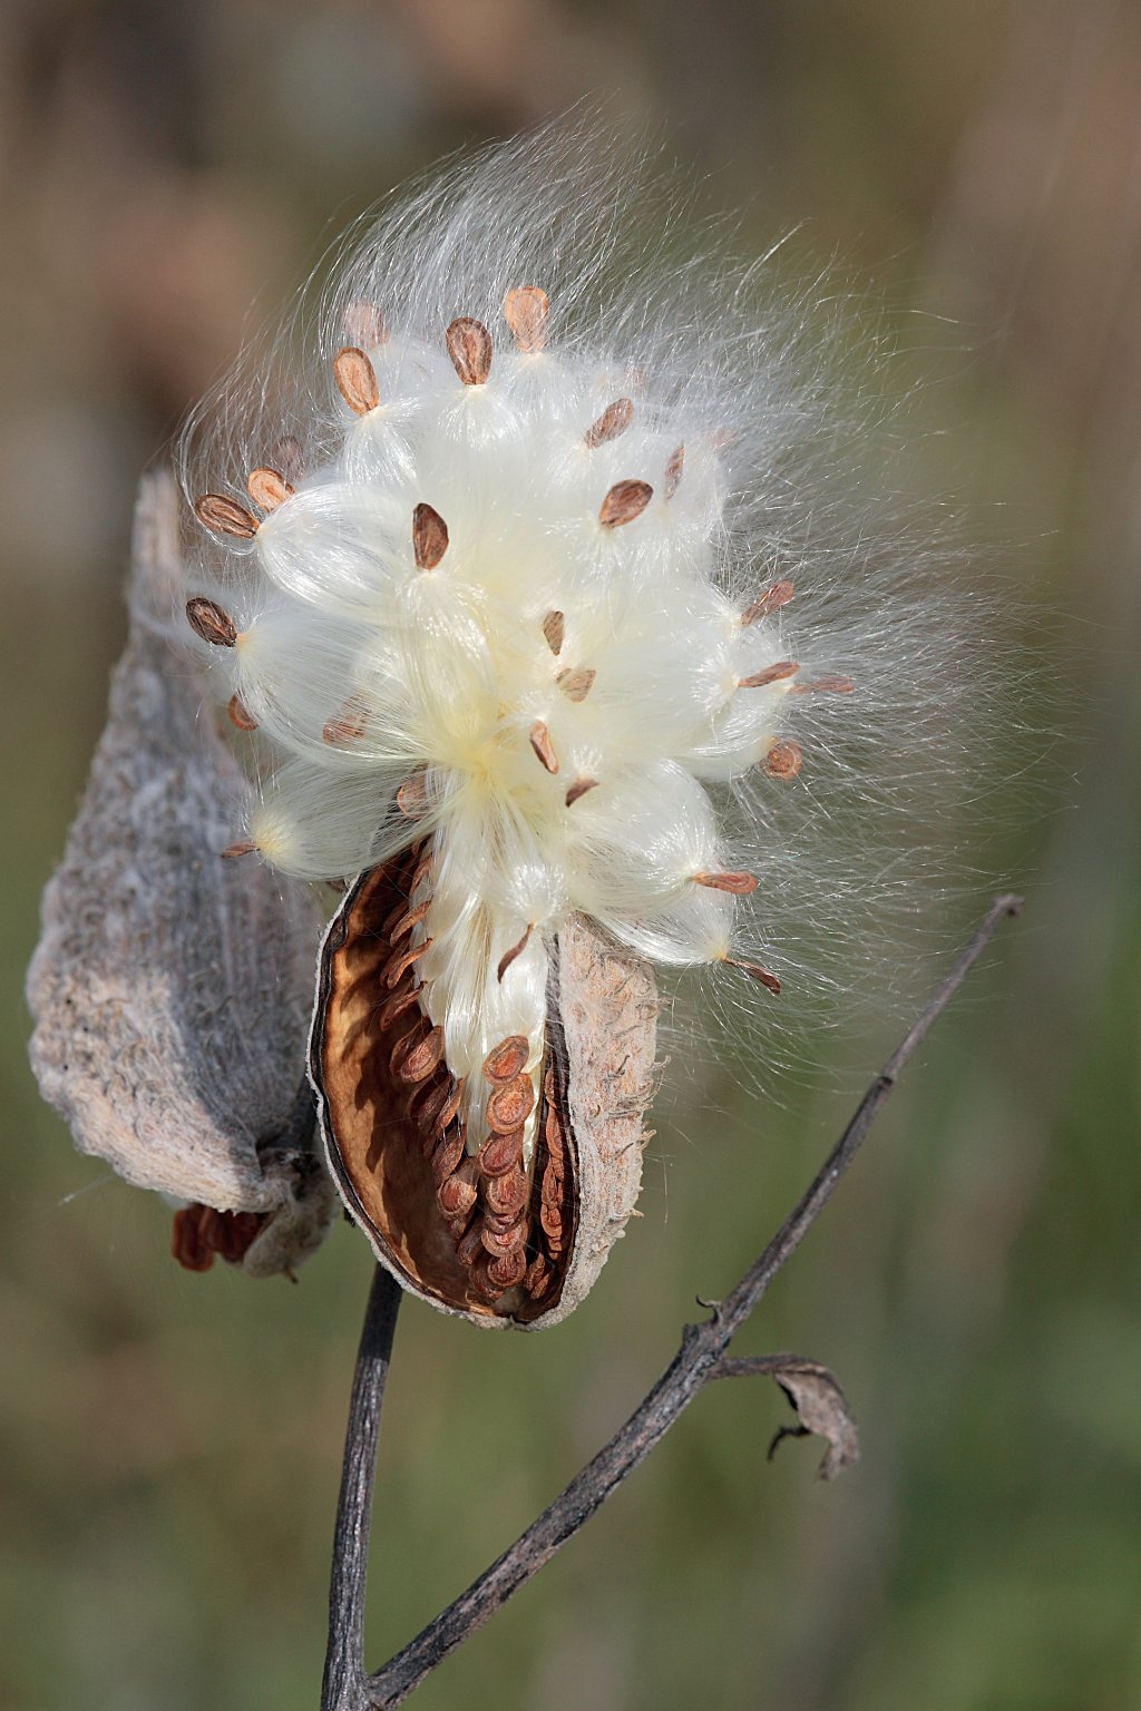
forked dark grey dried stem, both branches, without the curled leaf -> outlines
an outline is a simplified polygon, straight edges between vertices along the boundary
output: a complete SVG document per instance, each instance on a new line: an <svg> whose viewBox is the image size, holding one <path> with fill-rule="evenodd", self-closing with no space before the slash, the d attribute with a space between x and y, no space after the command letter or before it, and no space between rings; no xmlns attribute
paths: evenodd
<svg viewBox="0 0 1141 1711"><path fill-rule="evenodd" d="M648 1456L698 1391L712 1379L775 1374L787 1367L787 1355L725 1360L725 1350L773 1278L801 1246L825 1210L867 1134L879 1107L895 1086L900 1069L927 1037L967 974L990 943L1006 915L1016 915L1021 898L996 897L973 938L948 977L932 994L896 1051L860 1100L852 1121L816 1174L811 1187L789 1213L756 1263L724 1302L710 1305L705 1324L688 1324L674 1355L645 1401L611 1442L599 1451L566 1490L532 1526L503 1552L481 1578L448 1605L402 1651L376 1672L364 1675L364 1581L368 1531L373 1501L380 1405L388 1372L399 1288L385 1271L376 1273L369 1294L346 1439L344 1477L337 1509L335 1557L330 1591L330 1637L325 1665L322 1711L390 1711L443 1663L488 1617L511 1598L549 1562L578 1528L618 1490Z"/></svg>

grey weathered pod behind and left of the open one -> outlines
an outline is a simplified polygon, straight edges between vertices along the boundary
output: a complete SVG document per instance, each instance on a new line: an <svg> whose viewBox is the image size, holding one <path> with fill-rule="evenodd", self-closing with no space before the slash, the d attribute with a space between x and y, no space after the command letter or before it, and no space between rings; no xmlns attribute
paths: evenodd
<svg viewBox="0 0 1141 1711"><path fill-rule="evenodd" d="M82 1152L140 1187L258 1215L241 1263L284 1271L335 1205L294 1104L320 922L303 888L219 861L245 784L171 657L176 542L174 486L151 477L108 725L43 898L31 1059Z"/></svg>

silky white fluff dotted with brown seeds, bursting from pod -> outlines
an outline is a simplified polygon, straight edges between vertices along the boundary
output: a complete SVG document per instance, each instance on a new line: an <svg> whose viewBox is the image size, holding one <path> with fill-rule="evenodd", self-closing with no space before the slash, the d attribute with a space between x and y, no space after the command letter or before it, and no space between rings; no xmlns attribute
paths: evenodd
<svg viewBox="0 0 1141 1711"><path fill-rule="evenodd" d="M588 123L460 161L181 443L180 621L258 784L226 854L431 852L407 950L470 1133L501 1040L541 1073L571 912L772 1023L890 962L978 789L984 621L869 486L876 342L681 207Z"/></svg>

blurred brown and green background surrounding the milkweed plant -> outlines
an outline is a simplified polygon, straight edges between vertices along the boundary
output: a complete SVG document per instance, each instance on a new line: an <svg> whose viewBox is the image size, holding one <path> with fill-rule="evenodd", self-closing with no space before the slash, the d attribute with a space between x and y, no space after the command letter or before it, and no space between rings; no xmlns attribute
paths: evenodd
<svg viewBox="0 0 1141 1711"><path fill-rule="evenodd" d="M816 1444L766 1466L782 1398L712 1388L417 1704L1141 1706L1138 89L1132 0L0 12L3 1706L316 1704L364 1244L340 1228L296 1288L178 1271L163 1206L39 1104L22 972L121 643L139 471L255 299L274 310L364 204L582 92L744 207L742 245L802 224L802 253L886 294L902 342L944 346L932 488L970 501L980 578L1018 582L1064 662L1042 671L1020 619L1049 751L1004 833L1025 919L737 1345L830 1362L862 1466L819 1485ZM996 732L990 765L1025 755ZM734 1063L667 1088L645 1218L565 1328L486 1338L405 1307L375 1663L760 1249L893 1044L867 1009L775 1102Z"/></svg>

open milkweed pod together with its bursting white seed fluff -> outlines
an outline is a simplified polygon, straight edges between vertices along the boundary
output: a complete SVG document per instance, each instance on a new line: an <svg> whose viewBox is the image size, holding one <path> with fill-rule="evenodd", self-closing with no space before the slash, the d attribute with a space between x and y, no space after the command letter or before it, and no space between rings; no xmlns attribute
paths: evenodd
<svg viewBox="0 0 1141 1711"><path fill-rule="evenodd" d="M231 852L347 886L332 1174L489 1324L570 1311L633 1208L652 965L819 980L804 917L852 946L960 693L922 570L838 522L814 332L650 255L662 212L582 132L462 164L185 443L185 611L260 780Z"/></svg>

